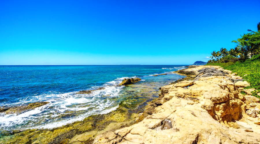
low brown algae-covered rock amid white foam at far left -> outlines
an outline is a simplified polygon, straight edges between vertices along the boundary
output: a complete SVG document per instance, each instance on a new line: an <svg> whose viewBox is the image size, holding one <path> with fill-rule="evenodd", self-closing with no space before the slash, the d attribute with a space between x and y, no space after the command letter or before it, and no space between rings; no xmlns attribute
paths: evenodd
<svg viewBox="0 0 260 144"><path fill-rule="evenodd" d="M36 103L29 103L28 105L23 105L23 106L5 107L5 108L1 108L0 112L4 112L5 114L13 114L13 113L21 114L26 111L35 109L36 107L46 105L48 103L50 102L36 102Z"/></svg>

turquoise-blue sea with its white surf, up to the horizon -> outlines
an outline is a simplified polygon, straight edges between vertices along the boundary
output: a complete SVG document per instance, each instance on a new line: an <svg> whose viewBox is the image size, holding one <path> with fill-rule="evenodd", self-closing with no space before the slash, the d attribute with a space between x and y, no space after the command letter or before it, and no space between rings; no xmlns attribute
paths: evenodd
<svg viewBox="0 0 260 144"><path fill-rule="evenodd" d="M99 66L0 66L0 106L17 106L47 101L47 105L22 114L0 113L0 130L54 128L99 113L115 110L131 92L143 98L142 88L158 90L182 78L177 74L160 75L183 69L184 65L99 65ZM118 86L124 78L140 77L139 89ZM135 84L133 84L135 85ZM104 87L92 94L80 90ZM146 92L147 93L147 92ZM156 97L156 95L153 97ZM73 115L64 116L73 112Z"/></svg>

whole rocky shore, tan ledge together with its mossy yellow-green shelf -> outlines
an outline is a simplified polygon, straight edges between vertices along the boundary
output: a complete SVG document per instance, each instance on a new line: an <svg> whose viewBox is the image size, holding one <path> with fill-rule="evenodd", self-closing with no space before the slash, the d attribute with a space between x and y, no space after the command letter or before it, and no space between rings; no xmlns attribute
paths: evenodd
<svg viewBox="0 0 260 144"><path fill-rule="evenodd" d="M220 75L200 77L203 68L215 68ZM147 105L139 103L137 111L127 111L124 107L137 103L126 101L110 113L91 115L59 128L14 131L5 142L32 143L32 138L41 137L33 143L259 143L260 126L254 124L259 117L249 117L246 110L260 105L239 93L247 82L237 85L230 80L241 77L218 66L190 66L172 73L186 77L162 86L159 97L146 101ZM131 86L138 87L136 84ZM211 92L220 94L210 96ZM207 98L201 96L205 93ZM250 107L250 103L256 106Z"/></svg>

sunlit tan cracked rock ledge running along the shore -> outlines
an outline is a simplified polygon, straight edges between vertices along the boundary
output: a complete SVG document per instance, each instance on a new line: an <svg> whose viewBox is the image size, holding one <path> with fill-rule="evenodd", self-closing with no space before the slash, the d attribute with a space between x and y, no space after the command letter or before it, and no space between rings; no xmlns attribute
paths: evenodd
<svg viewBox="0 0 260 144"><path fill-rule="evenodd" d="M240 94L247 82L220 67L178 72L195 79L162 87L159 104L147 117L105 132L94 143L260 143L259 116L246 113L258 109L259 100Z"/></svg>

